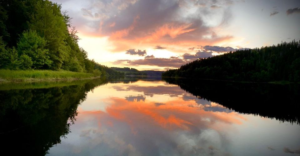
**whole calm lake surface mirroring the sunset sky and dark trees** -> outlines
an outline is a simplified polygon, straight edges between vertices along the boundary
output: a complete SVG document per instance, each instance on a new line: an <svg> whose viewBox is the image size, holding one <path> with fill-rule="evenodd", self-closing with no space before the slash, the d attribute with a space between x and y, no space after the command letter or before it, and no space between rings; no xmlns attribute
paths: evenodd
<svg viewBox="0 0 300 156"><path fill-rule="evenodd" d="M299 84L125 77L0 85L1 153L300 154Z"/></svg>

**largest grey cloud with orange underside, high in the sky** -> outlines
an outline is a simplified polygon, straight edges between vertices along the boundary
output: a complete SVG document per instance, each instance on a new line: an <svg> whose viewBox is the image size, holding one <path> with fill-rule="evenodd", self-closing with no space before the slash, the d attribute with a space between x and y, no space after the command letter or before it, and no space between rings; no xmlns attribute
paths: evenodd
<svg viewBox="0 0 300 156"><path fill-rule="evenodd" d="M109 37L116 47L111 51L124 51L141 42L149 47L156 46L154 49L165 49L163 45L213 44L231 39L232 36L226 35L205 38L216 26L208 26L203 19L221 15L216 18L218 23L230 23L229 5L232 3L207 1L204 5L204 2L200 4L194 0L88 0L80 10L82 16L75 11L71 11L70 16L76 16L74 24L85 36Z"/></svg>

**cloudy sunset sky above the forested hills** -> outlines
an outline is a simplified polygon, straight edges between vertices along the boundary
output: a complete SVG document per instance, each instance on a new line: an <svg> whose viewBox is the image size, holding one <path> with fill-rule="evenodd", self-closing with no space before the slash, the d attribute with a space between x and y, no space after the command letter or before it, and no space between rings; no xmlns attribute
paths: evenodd
<svg viewBox="0 0 300 156"><path fill-rule="evenodd" d="M88 58L109 67L178 68L245 48L300 40L300 0L53 0Z"/></svg>

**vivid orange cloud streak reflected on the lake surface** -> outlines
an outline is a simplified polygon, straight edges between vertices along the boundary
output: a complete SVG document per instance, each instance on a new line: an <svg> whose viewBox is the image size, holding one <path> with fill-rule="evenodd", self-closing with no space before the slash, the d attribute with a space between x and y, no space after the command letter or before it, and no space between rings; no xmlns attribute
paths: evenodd
<svg viewBox="0 0 300 156"><path fill-rule="evenodd" d="M116 120L127 122L132 131L136 131L134 129L139 122L153 123L168 130L178 128L190 130L192 127L203 124L206 127L212 127L212 123L215 121L242 124L241 119L245 120L236 112L210 112L188 107L189 105L195 105L195 101L183 101L181 98L176 101L168 101L159 106L153 102L127 101L116 97L107 100L111 102L111 105L106 109L108 115ZM205 121L206 118L209 121ZM109 123L109 126L111 125L112 123Z"/></svg>

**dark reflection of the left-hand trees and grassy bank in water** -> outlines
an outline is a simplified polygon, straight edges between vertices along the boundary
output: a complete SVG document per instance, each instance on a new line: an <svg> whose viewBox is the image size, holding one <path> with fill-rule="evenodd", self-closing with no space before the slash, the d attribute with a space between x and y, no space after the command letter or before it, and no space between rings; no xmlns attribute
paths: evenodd
<svg viewBox="0 0 300 156"><path fill-rule="evenodd" d="M3 84L0 87L0 152L45 155L70 132L70 124L78 114L77 107L86 99L87 92L102 83L102 80L93 80L18 84L11 85L17 88L11 90L8 90L9 84Z"/></svg>

